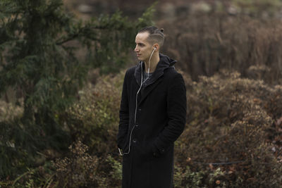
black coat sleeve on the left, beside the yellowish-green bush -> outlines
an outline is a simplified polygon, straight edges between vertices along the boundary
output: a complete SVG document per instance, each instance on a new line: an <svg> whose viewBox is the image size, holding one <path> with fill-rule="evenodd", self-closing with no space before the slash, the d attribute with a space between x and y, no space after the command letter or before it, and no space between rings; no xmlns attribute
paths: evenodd
<svg viewBox="0 0 282 188"><path fill-rule="evenodd" d="M118 148L124 149L126 142L126 135L128 132L128 88L127 88L128 72L125 73L123 80L123 91L121 94L121 106L119 111L119 125L118 125Z"/></svg>

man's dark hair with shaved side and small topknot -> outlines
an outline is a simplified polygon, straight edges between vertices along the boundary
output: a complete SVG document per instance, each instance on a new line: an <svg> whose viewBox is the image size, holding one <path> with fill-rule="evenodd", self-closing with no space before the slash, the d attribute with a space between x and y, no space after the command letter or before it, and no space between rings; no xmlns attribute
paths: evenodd
<svg viewBox="0 0 282 188"><path fill-rule="evenodd" d="M148 27L144 27L141 30L139 30L138 33L142 33L142 32L149 32L149 36L148 36L148 42L150 42L151 44L157 43L159 44L159 46L163 46L164 44L164 29L158 29L155 26L148 26Z"/></svg>

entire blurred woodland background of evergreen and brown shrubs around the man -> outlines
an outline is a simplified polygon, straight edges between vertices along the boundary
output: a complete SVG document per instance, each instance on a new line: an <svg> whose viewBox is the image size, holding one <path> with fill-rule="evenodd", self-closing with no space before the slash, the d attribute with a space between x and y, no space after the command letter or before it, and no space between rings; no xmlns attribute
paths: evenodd
<svg viewBox="0 0 282 188"><path fill-rule="evenodd" d="M174 187L281 187L281 19L278 0L1 1L0 187L121 187L121 87L145 25L187 88Z"/></svg>

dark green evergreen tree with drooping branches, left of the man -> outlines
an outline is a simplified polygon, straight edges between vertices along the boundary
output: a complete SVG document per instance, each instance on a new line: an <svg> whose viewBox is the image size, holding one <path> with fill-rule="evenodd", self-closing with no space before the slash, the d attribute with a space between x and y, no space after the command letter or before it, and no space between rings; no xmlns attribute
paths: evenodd
<svg viewBox="0 0 282 188"><path fill-rule="evenodd" d="M57 114L75 101L88 70L109 73L125 64L135 33L152 24L153 11L135 22L119 11L82 22L61 0L1 0L0 94L8 88L20 93L24 112L0 123L0 177L33 163L36 151L70 144Z"/></svg>

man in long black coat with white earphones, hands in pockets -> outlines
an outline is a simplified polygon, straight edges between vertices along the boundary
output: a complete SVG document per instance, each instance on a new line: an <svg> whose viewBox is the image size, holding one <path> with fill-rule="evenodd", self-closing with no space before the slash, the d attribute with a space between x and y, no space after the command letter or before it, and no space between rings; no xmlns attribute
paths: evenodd
<svg viewBox="0 0 282 188"><path fill-rule="evenodd" d="M163 32L151 26L137 33L140 62L125 73L118 125L123 188L173 187L173 142L185 126L186 89L176 61L159 53Z"/></svg>

